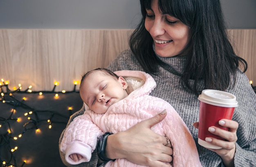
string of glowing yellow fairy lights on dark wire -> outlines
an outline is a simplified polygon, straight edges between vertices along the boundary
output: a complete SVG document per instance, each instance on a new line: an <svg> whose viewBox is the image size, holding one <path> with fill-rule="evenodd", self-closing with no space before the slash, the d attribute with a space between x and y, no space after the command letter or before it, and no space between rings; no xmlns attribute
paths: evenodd
<svg viewBox="0 0 256 167"><path fill-rule="evenodd" d="M60 92L56 92L55 88L58 86L58 82L54 83L54 88L52 91L32 91L31 88L32 86L29 86L26 90L22 91L21 84L18 84L18 89L16 87L13 88L13 90L10 90L8 85L9 81L4 81L4 79L1 79L0 82L0 101L2 103L5 103L6 105L11 105L12 110L9 116L7 118L4 118L3 116L0 116L0 128L1 127L7 127L7 132L0 133L0 147L1 146L6 146L7 151L4 154L10 154L10 158L8 160L3 160L0 156L0 167L23 167L26 163L27 160L24 160L22 164L18 165L16 163L16 156L15 156L15 151L18 149L18 146L12 145L11 143L15 143L13 141L18 140L21 138L26 132L29 130L35 130L36 133L40 133L40 125L46 124L49 129L52 128L52 125L54 123L61 123L61 124L67 124L68 119L72 115L72 107L67 107L67 114L60 114L59 112L56 111L49 111L49 110L36 110L36 108L32 108L31 106L25 104L25 101L27 100L26 97L23 97L22 100L18 100L15 97L15 94L19 93L36 93L39 96L42 96L45 93L53 93L55 94L54 98L58 98L58 94L60 93L72 93L72 92L79 92L76 91L76 85L79 83L79 81L74 81L74 89L72 91L65 91L62 90ZM21 119L19 117L15 117L15 112L17 112L17 108L21 107L22 109L25 109L27 112L24 113L25 119L27 119L27 122L23 125L24 129L20 134L17 136L14 136L13 134L13 128L11 127L13 122L17 121L20 122ZM42 114L47 114L49 115L49 118L47 119L42 119L41 115ZM65 118L67 121L53 121L54 117L62 117Z"/></svg>

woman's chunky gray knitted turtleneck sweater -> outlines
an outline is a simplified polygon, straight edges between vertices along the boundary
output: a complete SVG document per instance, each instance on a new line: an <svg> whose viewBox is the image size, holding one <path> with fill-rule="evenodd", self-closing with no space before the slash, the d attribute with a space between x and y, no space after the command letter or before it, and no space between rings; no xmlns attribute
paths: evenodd
<svg viewBox="0 0 256 167"><path fill-rule="evenodd" d="M189 128L195 143L197 144L200 162L204 167L221 167L224 166L218 154L198 145L198 130L193 127L193 123L198 121L199 101L197 95L182 87L180 74L183 73L186 56L160 57L168 66L159 67L159 72L152 75L157 86L150 93L151 96L159 97L170 103L173 108L180 114L187 127ZM117 70L141 70L142 67L137 62L130 50L123 51L108 67L112 71ZM236 84L232 89L227 90L237 97L238 107L234 111L233 120L239 123L237 130L238 140L236 142L235 166L252 167L256 166L256 94L249 80L240 70L236 74ZM192 80L191 80L192 82ZM199 88L203 88L201 82ZM70 121L79 114L83 114L84 108L76 112ZM68 123L69 124L69 123ZM67 124L67 125L68 125ZM63 134L61 135L60 141ZM65 156L60 152L61 158L65 165ZM96 167L96 151L93 152L89 163L73 165L73 167ZM72 165L68 165L72 166Z"/></svg>

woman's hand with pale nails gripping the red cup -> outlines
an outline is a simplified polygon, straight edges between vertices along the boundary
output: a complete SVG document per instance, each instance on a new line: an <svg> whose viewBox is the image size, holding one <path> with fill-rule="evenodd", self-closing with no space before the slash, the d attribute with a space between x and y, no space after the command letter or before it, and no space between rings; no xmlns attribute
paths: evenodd
<svg viewBox="0 0 256 167"><path fill-rule="evenodd" d="M238 128L238 123L236 121L228 120L228 119L221 119L219 121L219 124L223 127L228 127L229 131L222 130L218 127L211 126L209 127L209 132L212 134L215 134L217 136L220 136L222 138L225 138L227 141L223 141L220 139L207 137L205 138L205 141L222 147L222 149L210 149L213 152L216 152L221 158L223 163L226 167L232 167L234 166L234 156L236 152L236 130ZM198 128L198 122L193 124L194 127Z"/></svg>

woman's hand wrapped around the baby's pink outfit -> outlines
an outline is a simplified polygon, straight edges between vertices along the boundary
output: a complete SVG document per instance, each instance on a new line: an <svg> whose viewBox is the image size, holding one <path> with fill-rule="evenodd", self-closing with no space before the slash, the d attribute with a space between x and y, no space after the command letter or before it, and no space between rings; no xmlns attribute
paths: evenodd
<svg viewBox="0 0 256 167"><path fill-rule="evenodd" d="M110 159L126 158L132 163L150 167L170 167L173 160L171 144L166 145L166 137L150 130L165 116L166 112L162 112L129 130L109 135L106 156Z"/></svg>

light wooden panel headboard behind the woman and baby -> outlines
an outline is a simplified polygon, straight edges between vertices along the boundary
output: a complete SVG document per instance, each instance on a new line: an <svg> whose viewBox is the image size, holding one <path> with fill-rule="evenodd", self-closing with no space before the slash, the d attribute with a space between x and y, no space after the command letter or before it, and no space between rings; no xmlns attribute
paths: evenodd
<svg viewBox="0 0 256 167"><path fill-rule="evenodd" d="M0 79L12 90L70 91L74 81L97 67L106 67L128 48L130 29L0 29ZM236 53L248 63L256 84L256 29L230 29ZM254 85L255 85L254 84ZM79 87L76 87L77 89Z"/></svg>

